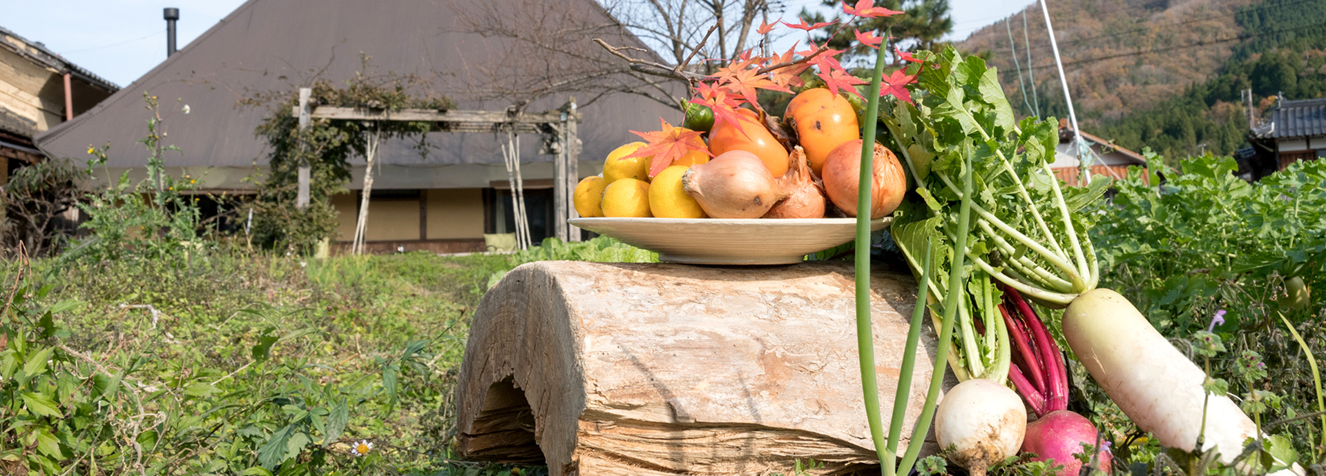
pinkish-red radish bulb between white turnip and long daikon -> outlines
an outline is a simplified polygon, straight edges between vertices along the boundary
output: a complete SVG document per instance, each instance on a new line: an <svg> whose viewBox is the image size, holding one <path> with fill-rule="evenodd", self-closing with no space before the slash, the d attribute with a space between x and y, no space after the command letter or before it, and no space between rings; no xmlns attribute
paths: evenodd
<svg viewBox="0 0 1326 476"><path fill-rule="evenodd" d="M1054 464L1062 465L1063 469L1057 472L1059 476L1074 476L1082 469L1077 455L1086 451L1083 444L1106 446L1103 439L1097 443L1097 435L1091 420L1067 410L1055 410L1026 424L1022 451L1036 453L1036 461L1054 460ZM1098 469L1109 473L1111 459L1109 449L1097 448Z"/></svg>

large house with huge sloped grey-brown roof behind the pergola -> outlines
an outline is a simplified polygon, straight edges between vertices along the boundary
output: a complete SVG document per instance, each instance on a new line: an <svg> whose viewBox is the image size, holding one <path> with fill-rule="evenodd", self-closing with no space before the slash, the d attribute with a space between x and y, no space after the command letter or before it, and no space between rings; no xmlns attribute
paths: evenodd
<svg viewBox="0 0 1326 476"><path fill-rule="evenodd" d="M371 57L370 73L427 80L419 88L451 98L457 110L503 111L524 105L525 111L540 113L556 110L574 95L581 115L579 176L598 174L607 152L636 141L630 130L656 129L660 117L680 121L680 113L664 102L621 93L631 85L647 85L656 86L656 98L666 98L679 94L682 85L640 78L629 64L593 44L593 37L602 37L613 45L640 48L642 57L652 54L625 28L611 27L617 23L598 3L525 5L529 8L484 0L249 0L86 115L38 135L36 143L52 156L85 158L89 143L111 141L110 175L129 171L142 178L145 154L134 142L146 133L142 95L149 91L160 98L163 114L167 107L175 110L166 119L168 137L163 141L182 150L164 156L172 174L190 174L204 191L253 194L255 184L247 178L261 176L269 152L255 129L269 111L237 102L257 93L293 94L316 78L343 84L362 70L362 57ZM489 17L505 19L511 30L530 34L544 33L536 28L578 33L568 44L544 45L493 29L476 32L473 23ZM585 24L598 29L573 28ZM613 61L602 65L615 69L587 72L593 76L566 82L573 86L541 93L560 88L548 85L550 76L566 77L578 68L575 58L552 46L572 49L578 57L609 56ZM496 82L501 80L518 88ZM495 91L499 86L507 89ZM512 90L524 97L512 97ZM182 105L190 106L187 115L179 113ZM366 248L469 252L485 248L485 235L513 232L500 147L507 142L504 134L432 133L427 142L432 146L427 154L411 141L382 145ZM520 143L525 211L538 243L553 236L554 167L552 155L540 154L538 137L524 137ZM339 212L337 240L342 245L355 228L363 158L351 160L350 171L349 194L332 200Z"/></svg>

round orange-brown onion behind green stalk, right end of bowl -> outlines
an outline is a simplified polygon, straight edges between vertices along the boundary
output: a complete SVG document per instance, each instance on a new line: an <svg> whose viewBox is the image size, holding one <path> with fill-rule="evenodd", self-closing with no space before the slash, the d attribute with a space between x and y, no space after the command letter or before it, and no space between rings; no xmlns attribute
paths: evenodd
<svg viewBox="0 0 1326 476"><path fill-rule="evenodd" d="M849 216L857 216L857 188L861 186L861 141L843 142L825 159L825 195ZM892 213L907 194L907 174L888 147L875 143L875 175L870 180L870 217Z"/></svg>

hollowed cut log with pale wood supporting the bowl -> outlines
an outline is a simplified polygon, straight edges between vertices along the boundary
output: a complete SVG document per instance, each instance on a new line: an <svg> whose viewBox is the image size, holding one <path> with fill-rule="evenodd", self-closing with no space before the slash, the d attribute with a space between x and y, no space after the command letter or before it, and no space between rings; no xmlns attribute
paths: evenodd
<svg viewBox="0 0 1326 476"><path fill-rule="evenodd" d="M790 473L812 459L823 463L813 475L878 465L853 289L845 261L521 265L475 313L459 451L545 463L553 476ZM886 419L915 290L907 274L871 280ZM934 367L924 321L904 438ZM923 453L935 449L930 440Z"/></svg>

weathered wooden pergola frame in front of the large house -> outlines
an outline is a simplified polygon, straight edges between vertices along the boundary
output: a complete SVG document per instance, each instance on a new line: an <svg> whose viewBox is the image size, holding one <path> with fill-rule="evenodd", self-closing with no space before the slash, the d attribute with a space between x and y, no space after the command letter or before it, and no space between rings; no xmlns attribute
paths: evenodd
<svg viewBox="0 0 1326 476"><path fill-rule="evenodd" d="M575 111L575 98L570 98L562 107L541 113L525 113L514 107L507 111L487 111L487 110L431 110L431 109L399 109L399 110L386 110L386 109L362 109L362 107L335 107L335 106L317 106L310 107L309 97L312 90L308 88L300 88L300 105L296 106L296 115L300 118L300 127L308 127L312 119L335 119L335 121L366 121L366 122L386 122L386 121L400 121L400 122L431 122L434 123L432 131L436 133L505 133L505 134L538 134L544 141L544 147L540 150L541 154L553 154L553 235L562 241L579 241L581 233L578 228L569 225L566 221L575 217L575 207L572 206L572 199L575 191L575 184L579 180L579 141L577 139L577 125L581 121L579 113ZM357 223L357 241L361 240L361 233L363 224L367 219L369 196L373 186L373 163L377 159L377 145L370 138L370 147L367 147L367 168L365 170L365 190L363 199L359 208L359 220ZM518 175L518 151L516 147L511 147L511 155L508 160L516 160L516 175L512 180L512 196L513 202L516 198L522 195L521 179ZM508 154L504 149L504 154ZM508 162L508 167L511 162ZM301 166L298 170L298 195L296 199L297 207L306 207L309 203L309 167ZM521 204L513 207L514 213L521 213L524 211L524 200ZM521 220L517 215L517 220ZM362 244L358 244L362 248ZM359 252L357 248L355 252Z"/></svg>

